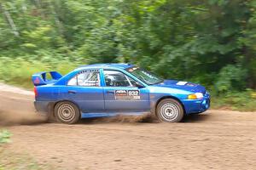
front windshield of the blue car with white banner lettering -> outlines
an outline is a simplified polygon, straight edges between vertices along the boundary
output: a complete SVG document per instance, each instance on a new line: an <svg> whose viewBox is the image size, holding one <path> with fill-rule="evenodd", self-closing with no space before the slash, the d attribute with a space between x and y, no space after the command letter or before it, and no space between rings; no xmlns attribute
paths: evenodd
<svg viewBox="0 0 256 170"><path fill-rule="evenodd" d="M128 68L126 71L130 72L133 76L137 77L148 85L158 84L164 81L163 79L154 76L149 71L145 71L139 67L131 67Z"/></svg>

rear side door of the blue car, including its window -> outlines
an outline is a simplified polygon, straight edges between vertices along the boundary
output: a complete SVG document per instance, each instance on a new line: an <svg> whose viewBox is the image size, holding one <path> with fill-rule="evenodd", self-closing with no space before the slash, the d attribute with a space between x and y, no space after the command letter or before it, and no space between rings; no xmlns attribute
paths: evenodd
<svg viewBox="0 0 256 170"><path fill-rule="evenodd" d="M67 82L67 88L62 92L65 99L79 105L80 111L104 111L103 88L99 70L84 70Z"/></svg>

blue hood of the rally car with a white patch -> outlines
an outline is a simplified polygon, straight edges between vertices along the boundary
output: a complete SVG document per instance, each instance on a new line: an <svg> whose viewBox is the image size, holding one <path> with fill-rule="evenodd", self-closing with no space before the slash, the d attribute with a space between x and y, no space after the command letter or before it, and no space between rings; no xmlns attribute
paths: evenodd
<svg viewBox="0 0 256 170"><path fill-rule="evenodd" d="M192 93L202 93L205 94L207 92L206 88L201 86L200 84L195 84L193 82L180 82L177 80L165 80L159 84L155 84L156 87L164 87L164 88L177 88L186 90Z"/></svg>

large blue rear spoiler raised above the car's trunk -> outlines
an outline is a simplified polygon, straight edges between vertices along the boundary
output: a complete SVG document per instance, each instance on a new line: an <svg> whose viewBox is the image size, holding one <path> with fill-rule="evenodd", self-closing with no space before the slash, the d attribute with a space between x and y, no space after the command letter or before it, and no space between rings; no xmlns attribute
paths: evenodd
<svg viewBox="0 0 256 170"><path fill-rule="evenodd" d="M51 77L51 79L48 79L47 77ZM32 82L34 83L34 86L42 86L42 85L54 83L57 80L59 80L61 77L62 75L57 71L43 71L43 72L38 72L36 74L33 74Z"/></svg>

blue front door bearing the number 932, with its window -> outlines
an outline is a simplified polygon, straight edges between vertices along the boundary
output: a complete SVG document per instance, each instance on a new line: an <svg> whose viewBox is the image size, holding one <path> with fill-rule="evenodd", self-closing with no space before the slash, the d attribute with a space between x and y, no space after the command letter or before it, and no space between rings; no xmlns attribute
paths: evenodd
<svg viewBox="0 0 256 170"><path fill-rule="evenodd" d="M104 70L105 110L113 112L149 111L148 88L137 88L137 82L122 71Z"/></svg>

